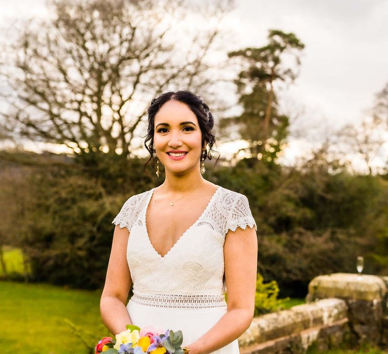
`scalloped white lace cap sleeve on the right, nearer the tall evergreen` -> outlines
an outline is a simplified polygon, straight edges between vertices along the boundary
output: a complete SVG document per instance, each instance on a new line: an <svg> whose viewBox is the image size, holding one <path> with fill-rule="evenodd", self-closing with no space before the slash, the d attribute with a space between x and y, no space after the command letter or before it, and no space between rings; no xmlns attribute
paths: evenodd
<svg viewBox="0 0 388 354"><path fill-rule="evenodd" d="M236 200L231 206L231 210L226 221L225 233L229 230L236 231L237 227L245 230L247 225L250 228L255 227L255 230L257 231L257 225L252 216L248 198L244 194L236 194Z"/></svg>

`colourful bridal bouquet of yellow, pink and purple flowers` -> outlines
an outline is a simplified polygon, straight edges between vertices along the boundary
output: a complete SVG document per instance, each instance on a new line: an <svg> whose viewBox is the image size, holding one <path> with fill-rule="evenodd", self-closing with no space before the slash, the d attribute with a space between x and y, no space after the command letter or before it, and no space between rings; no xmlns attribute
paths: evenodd
<svg viewBox="0 0 388 354"><path fill-rule="evenodd" d="M183 354L182 331L127 325L116 339L104 337L95 346L95 354Z"/></svg>

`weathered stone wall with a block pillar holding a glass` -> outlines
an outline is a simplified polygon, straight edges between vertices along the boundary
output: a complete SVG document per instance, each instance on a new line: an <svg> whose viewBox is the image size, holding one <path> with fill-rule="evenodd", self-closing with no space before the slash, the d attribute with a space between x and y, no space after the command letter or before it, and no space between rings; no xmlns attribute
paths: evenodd
<svg viewBox="0 0 388 354"><path fill-rule="evenodd" d="M335 273L314 278L306 304L255 317L241 354L325 351L341 343L388 345L388 277Z"/></svg>

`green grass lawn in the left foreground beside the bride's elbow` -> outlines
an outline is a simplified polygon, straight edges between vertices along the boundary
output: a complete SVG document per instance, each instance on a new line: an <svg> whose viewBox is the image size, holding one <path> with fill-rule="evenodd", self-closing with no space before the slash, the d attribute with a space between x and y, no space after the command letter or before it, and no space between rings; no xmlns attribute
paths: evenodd
<svg viewBox="0 0 388 354"><path fill-rule="evenodd" d="M79 326L89 346L110 335L100 317L100 296L101 291L0 282L2 353L88 353L66 319Z"/></svg>

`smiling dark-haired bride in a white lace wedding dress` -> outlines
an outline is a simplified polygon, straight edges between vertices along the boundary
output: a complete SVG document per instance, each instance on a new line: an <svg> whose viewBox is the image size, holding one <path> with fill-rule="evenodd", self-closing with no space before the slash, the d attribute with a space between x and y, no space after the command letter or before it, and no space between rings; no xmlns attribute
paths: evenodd
<svg viewBox="0 0 388 354"><path fill-rule="evenodd" d="M148 123L144 145L156 154L158 178L159 162L166 177L130 197L112 222L102 319L115 335L127 324L159 326L182 330L190 354L237 354L256 290L257 227L248 199L202 177L215 138L200 97L165 93L152 101Z"/></svg>

